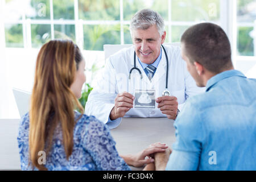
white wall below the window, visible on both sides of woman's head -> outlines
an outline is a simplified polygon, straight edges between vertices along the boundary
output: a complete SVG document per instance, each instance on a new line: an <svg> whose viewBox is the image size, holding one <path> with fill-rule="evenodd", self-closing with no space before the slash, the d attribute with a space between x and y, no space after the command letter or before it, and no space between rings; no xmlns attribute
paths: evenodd
<svg viewBox="0 0 256 182"><path fill-rule="evenodd" d="M13 95L13 88L32 91L36 57L39 49L28 48L0 48L0 55L6 55L0 63L0 119L20 118ZM85 57L86 69L97 63L98 67L104 65L103 51L82 51ZM86 72L86 82L92 81L92 73Z"/></svg>

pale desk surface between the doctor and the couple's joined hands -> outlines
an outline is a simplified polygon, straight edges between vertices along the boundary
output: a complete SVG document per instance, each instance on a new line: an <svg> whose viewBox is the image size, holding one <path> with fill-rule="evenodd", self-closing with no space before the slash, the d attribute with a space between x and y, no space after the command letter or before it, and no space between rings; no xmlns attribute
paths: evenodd
<svg viewBox="0 0 256 182"><path fill-rule="evenodd" d="M122 123L111 134L119 154L136 154L155 142L175 142L174 121L167 118L123 118ZM142 168L131 167L132 170Z"/></svg>

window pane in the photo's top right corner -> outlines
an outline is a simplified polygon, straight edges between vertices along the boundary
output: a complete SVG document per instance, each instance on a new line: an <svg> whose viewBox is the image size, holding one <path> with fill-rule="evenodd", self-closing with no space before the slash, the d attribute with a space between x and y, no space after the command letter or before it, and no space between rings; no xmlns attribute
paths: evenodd
<svg viewBox="0 0 256 182"><path fill-rule="evenodd" d="M238 0L237 1L237 20L238 22L254 22L256 19L256 1Z"/></svg>

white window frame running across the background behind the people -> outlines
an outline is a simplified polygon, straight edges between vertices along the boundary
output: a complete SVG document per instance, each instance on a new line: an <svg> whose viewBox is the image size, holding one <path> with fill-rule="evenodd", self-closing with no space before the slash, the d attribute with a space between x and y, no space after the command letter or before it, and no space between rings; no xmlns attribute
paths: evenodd
<svg viewBox="0 0 256 182"><path fill-rule="evenodd" d="M55 24L65 24L65 25L75 25L75 38L76 43L79 45L81 49L84 49L84 25L115 25L120 24L121 30L121 44L125 43L124 40L124 30L123 27L126 25L129 25L130 22L123 19L123 0L119 0L119 11L120 11L120 19L119 20L82 20L79 19L79 0L73 0L74 1L74 13L75 13L75 19L74 20L56 20L53 18L53 0L47 0L49 1L49 9L50 9L50 19L49 20L36 20L36 19L26 19L26 16L23 12L22 19L16 20L16 21L10 21L10 20L3 20L3 24L6 23L13 23L13 24L22 24L23 26L23 45L24 48L32 48L31 46L31 24L50 24L51 25L51 39L55 38L54 35L54 25ZM168 34L170 35L168 38L168 42L172 42L172 26L191 26L195 23L200 22L178 22L178 21L172 21L171 20L171 3L172 0L168 0L168 20L165 22L166 26L168 26ZM2 7L5 6L5 0L2 0ZM3 11L0 12L1 17L3 17ZM237 60L256 60L255 56L239 56L236 54L237 52L237 28L246 25L249 26L249 23L238 23L237 22L237 0L226 0L221 1L220 0L220 20L217 23L224 28L227 35L229 36L230 43L232 46L232 52L235 52L233 54L233 63L236 65ZM250 23L251 27L256 27L256 21L254 23ZM256 30L256 28L255 28ZM5 45L5 39L2 39L0 44ZM254 38L254 52L256 52L256 38Z"/></svg>

